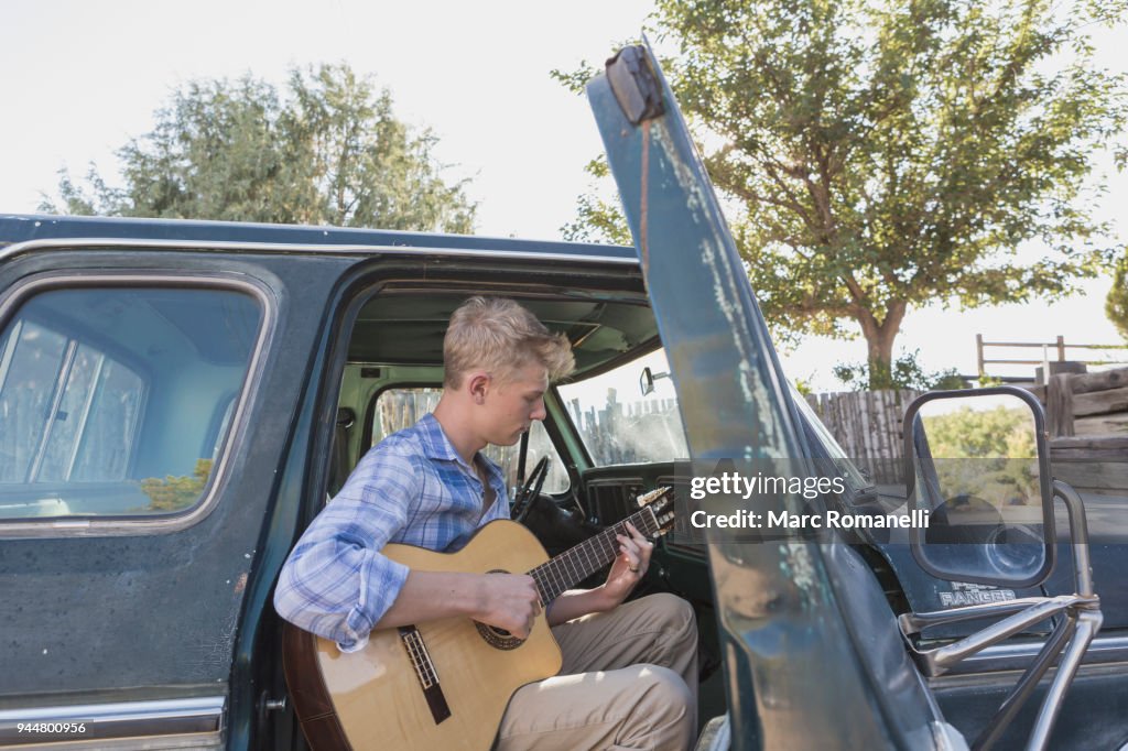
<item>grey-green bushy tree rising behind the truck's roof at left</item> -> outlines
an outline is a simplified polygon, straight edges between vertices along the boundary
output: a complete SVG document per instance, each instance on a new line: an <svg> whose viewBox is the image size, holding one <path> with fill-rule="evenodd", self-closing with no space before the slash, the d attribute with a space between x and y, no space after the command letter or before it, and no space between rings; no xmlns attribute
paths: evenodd
<svg viewBox="0 0 1128 751"><path fill-rule="evenodd" d="M448 185L435 136L413 134L387 90L347 65L290 72L283 91L245 77L188 83L151 133L117 151L125 187L91 166L63 170L58 204L72 214L214 219L469 232L475 206Z"/></svg>

